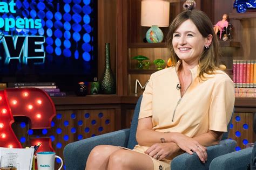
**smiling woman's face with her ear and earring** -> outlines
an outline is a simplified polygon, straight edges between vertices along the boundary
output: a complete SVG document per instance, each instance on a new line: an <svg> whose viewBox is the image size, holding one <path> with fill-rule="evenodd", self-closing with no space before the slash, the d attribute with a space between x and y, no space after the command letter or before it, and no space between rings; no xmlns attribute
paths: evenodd
<svg viewBox="0 0 256 170"><path fill-rule="evenodd" d="M210 35L211 36L211 35ZM180 60L190 65L197 65L199 56L205 45L210 45L208 38L204 38L196 25L188 19L173 33L172 45Z"/></svg>

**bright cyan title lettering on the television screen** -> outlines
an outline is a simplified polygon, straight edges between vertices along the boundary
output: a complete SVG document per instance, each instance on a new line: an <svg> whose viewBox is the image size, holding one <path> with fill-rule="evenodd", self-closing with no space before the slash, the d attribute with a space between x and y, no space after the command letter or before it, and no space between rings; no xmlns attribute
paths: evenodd
<svg viewBox="0 0 256 170"><path fill-rule="evenodd" d="M0 13L16 13L15 6L16 3L14 0L0 2ZM40 29L42 27L42 20L28 18L14 19L12 17L0 18L0 29L8 32L14 27L16 29ZM2 40L5 51L5 56L0 56L0 60L4 60L5 65L9 65L11 60L19 61L19 63L22 62L25 65L28 64L28 60L33 61L36 65L45 61L43 47L45 38L43 36L6 36L1 32L0 40Z"/></svg>

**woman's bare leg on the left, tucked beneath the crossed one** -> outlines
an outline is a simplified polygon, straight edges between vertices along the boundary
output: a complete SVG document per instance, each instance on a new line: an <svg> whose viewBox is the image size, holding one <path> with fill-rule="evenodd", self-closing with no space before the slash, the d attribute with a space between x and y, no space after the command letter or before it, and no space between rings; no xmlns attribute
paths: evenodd
<svg viewBox="0 0 256 170"><path fill-rule="evenodd" d="M86 170L97 170L97 169L107 169L107 165L109 164L110 155L120 150L117 146L111 145L98 145L89 154L89 157L86 162Z"/></svg>

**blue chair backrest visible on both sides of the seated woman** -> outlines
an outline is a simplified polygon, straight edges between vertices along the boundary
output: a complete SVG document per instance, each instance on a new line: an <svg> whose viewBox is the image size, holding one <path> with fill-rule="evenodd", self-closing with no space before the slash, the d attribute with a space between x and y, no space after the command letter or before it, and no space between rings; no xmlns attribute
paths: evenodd
<svg viewBox="0 0 256 170"><path fill-rule="evenodd" d="M137 131L139 110L140 110L141 102L142 102L142 96L139 97L139 100L136 104L136 107L135 107L134 113L133 113L133 117L132 117L130 135L129 135L129 140L128 140L128 144L127 144L127 148L130 148L130 149L133 149L133 147L138 144L136 141L136 131ZM234 109L232 112L232 117L230 119L230 122L227 125L227 132L223 133L223 137L221 138L221 140L227 139L227 137L228 137L228 133L230 132L230 124L232 123L233 114L234 114Z"/></svg>

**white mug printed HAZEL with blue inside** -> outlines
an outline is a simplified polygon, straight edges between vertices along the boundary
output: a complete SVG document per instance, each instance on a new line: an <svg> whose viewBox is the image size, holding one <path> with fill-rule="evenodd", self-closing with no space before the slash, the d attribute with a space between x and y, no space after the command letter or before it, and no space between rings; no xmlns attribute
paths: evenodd
<svg viewBox="0 0 256 170"><path fill-rule="evenodd" d="M54 170L55 158L59 158L62 161L62 165L58 168L60 170L63 166L63 160L55 152L38 152L35 156L35 159L37 159L37 169Z"/></svg>

